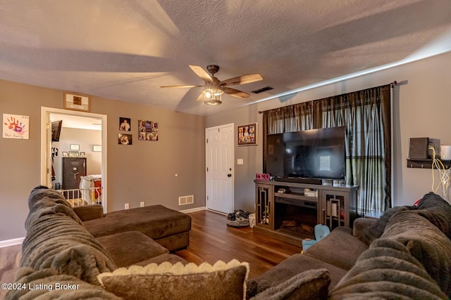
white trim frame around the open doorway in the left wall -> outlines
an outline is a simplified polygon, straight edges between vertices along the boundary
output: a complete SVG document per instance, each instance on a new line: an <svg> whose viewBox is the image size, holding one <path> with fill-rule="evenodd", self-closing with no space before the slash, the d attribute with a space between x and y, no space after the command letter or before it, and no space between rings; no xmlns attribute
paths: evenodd
<svg viewBox="0 0 451 300"><path fill-rule="evenodd" d="M78 117L79 119L99 119L101 126L101 203L104 212L107 211L107 173L106 173L106 115L90 112L78 112L75 110L61 110L53 107L41 107L41 184L51 187L51 115L60 115L67 118ZM61 153L62 155L62 153Z"/></svg>

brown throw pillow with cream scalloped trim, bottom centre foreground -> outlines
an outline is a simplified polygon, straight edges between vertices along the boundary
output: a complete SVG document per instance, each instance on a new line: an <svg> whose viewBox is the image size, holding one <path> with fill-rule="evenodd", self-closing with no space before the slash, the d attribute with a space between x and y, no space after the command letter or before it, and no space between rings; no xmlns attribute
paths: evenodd
<svg viewBox="0 0 451 300"><path fill-rule="evenodd" d="M232 260L211 266L168 262L118 268L97 278L106 291L124 299L243 299L249 264Z"/></svg>

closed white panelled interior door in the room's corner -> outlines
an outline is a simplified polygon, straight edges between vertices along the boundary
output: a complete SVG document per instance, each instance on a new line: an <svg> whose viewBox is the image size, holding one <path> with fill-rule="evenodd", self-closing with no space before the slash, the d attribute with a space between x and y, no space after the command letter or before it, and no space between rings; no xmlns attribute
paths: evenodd
<svg viewBox="0 0 451 300"><path fill-rule="evenodd" d="M234 124L205 129L206 208L223 213L234 207Z"/></svg>

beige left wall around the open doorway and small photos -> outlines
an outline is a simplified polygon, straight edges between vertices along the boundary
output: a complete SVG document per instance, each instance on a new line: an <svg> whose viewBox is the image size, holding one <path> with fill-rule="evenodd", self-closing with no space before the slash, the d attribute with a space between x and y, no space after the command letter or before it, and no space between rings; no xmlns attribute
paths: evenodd
<svg viewBox="0 0 451 300"><path fill-rule="evenodd" d="M30 139L0 138L0 241L25 236L27 197L40 183L41 107L63 108L63 91L0 80L0 112L30 116ZM204 117L92 97L91 112L107 115L108 209L164 204L205 206ZM119 117L132 119L133 145L118 145ZM159 124L159 141L137 141L137 120ZM178 174L175 177L175 174ZM178 206L178 197L194 204Z"/></svg>

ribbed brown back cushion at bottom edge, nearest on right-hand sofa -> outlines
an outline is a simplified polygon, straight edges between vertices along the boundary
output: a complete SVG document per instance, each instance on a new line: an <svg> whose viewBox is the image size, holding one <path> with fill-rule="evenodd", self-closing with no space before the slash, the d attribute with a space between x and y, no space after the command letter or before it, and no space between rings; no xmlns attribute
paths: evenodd
<svg viewBox="0 0 451 300"><path fill-rule="evenodd" d="M330 290L329 299L446 299L446 296L402 242L381 238Z"/></svg>

